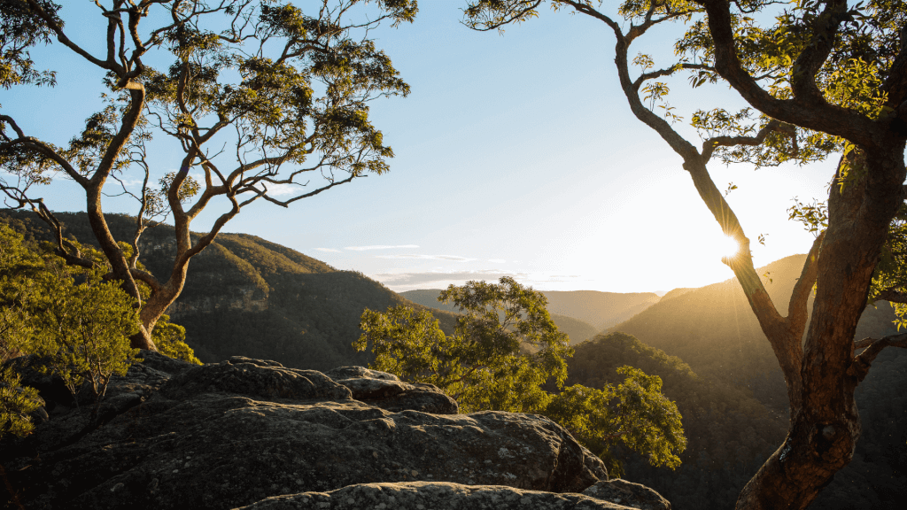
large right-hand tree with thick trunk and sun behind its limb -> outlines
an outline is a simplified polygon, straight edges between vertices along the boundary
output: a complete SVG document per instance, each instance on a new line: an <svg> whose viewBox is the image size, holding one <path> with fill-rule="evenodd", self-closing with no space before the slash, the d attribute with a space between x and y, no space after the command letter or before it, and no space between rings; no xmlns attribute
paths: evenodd
<svg viewBox="0 0 907 510"><path fill-rule="evenodd" d="M465 9L464 21L478 30L500 29L537 15L541 4L477 0ZM902 27L907 9L897 0L853 8L844 0L808 0L781 9L775 25L764 28L756 17L766 16L753 13L777 4L771 0L629 0L619 5L617 15L590 0L549 4L589 15L611 29L617 39L619 82L631 112L678 153L699 198L740 244L739 253L724 261L775 351L791 420L784 445L746 485L737 507L805 508L853 456L860 436L855 387L883 348L907 347L907 335L853 338L873 281L894 284L873 297L903 302L904 288L891 277L898 274L892 253L902 253L892 233L898 230L895 218L905 196L907 39ZM618 16L629 21L626 31ZM633 64L642 70L631 79L630 44L674 21L688 24L675 45L679 61L653 69L652 59L639 54ZM656 81L678 72L690 73L694 86L726 80L763 116L754 118L748 109L697 111L691 118L703 137L697 149L672 127L682 119L667 103L668 85ZM750 240L711 180L707 162L718 156L757 166L802 163L836 151L842 156L829 186L827 226L816 228L784 317L756 274ZM792 216L804 218L808 212L795 207ZM879 264L883 253L892 262L887 268ZM807 301L814 287L807 329ZM858 348L865 349L855 354Z"/></svg>

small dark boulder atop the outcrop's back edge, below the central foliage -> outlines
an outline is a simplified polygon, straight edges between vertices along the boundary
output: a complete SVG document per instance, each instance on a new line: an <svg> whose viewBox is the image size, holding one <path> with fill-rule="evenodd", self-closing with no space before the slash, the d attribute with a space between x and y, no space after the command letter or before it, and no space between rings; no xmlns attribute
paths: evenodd
<svg viewBox="0 0 907 510"><path fill-rule="evenodd" d="M388 411L411 409L435 415L455 415L460 410L456 400L433 384L405 383L394 374L363 367L334 368L325 375L349 388L356 400Z"/></svg>

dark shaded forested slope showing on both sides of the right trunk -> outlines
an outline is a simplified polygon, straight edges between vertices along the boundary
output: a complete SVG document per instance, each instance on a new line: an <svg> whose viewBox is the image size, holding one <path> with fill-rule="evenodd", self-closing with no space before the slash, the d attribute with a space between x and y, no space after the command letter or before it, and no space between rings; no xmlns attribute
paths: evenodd
<svg viewBox="0 0 907 510"><path fill-rule="evenodd" d="M787 420L745 387L698 377L680 358L623 333L576 346L567 384L619 382L616 368L640 368L663 381L688 439L676 471L628 454L626 479L647 485L677 510L732 508L743 485L785 437ZM857 387L863 432L853 461L810 505L811 510L901 508L907 486L907 350L885 349Z"/></svg>

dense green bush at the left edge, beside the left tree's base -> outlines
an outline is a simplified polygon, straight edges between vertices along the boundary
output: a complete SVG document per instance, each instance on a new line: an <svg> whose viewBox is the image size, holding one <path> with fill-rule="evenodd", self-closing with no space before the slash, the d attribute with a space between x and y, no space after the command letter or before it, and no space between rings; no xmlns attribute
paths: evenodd
<svg viewBox="0 0 907 510"><path fill-rule="evenodd" d="M66 266L49 249L42 260L5 225L0 243L0 361L37 355L39 369L62 378L73 397L87 382L100 401L112 375L124 375L138 353L129 340L139 328L132 299L116 282L102 280L100 264L92 270ZM94 250L86 255L101 258ZM4 378L7 387L18 386L12 372ZM31 390L17 391L5 391L5 406Z"/></svg>

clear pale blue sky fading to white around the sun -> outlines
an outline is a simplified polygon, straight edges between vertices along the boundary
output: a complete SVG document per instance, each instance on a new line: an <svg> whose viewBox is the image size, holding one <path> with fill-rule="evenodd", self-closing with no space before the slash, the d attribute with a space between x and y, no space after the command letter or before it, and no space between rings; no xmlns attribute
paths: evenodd
<svg viewBox="0 0 907 510"><path fill-rule="evenodd" d="M306 11L309 3L296 4ZM546 9L504 34L479 33L460 24L464 4L423 0L414 24L371 33L412 88L406 98L371 104L395 152L390 172L289 209L253 204L223 231L278 242L396 291L505 275L534 289L610 292L732 278L720 261L726 241L681 159L629 111L610 29ZM92 3L63 5L71 39L100 53L103 25ZM631 54L670 64L678 30L647 34ZM102 74L59 44L35 55L39 67L58 72L57 86L0 90L0 105L28 134L62 145L100 109ZM727 85L689 90L683 77L669 84L670 103L686 119L697 109L745 106ZM677 127L701 144L691 128ZM178 148L152 149L152 177L178 168ZM758 171L712 162L709 170L719 189L736 185L727 201L752 240L756 267L809 250L812 235L786 210L794 197L827 195L833 162ZM54 211L84 211L71 181L38 192ZM122 198L103 207L137 211ZM192 230L210 227L224 207L203 213Z"/></svg>

